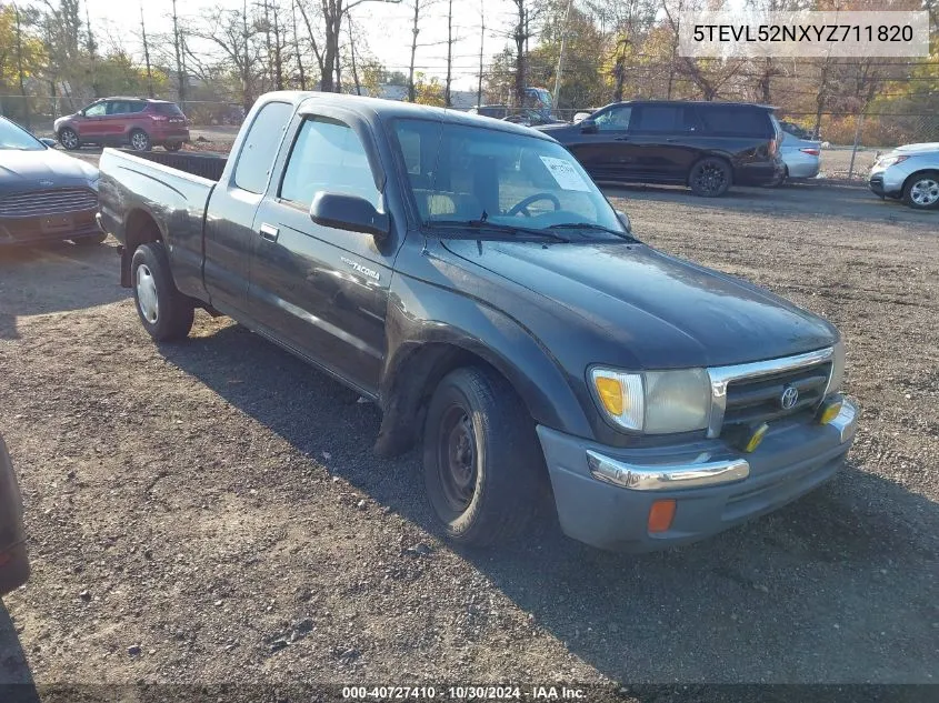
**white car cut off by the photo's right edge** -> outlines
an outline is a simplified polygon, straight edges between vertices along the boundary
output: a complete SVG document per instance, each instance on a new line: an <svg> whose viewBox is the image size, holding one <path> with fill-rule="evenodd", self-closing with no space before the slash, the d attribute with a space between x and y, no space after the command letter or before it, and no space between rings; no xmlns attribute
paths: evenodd
<svg viewBox="0 0 939 703"><path fill-rule="evenodd" d="M882 154L868 183L881 199L902 199L915 210L939 208L939 142L906 144Z"/></svg>

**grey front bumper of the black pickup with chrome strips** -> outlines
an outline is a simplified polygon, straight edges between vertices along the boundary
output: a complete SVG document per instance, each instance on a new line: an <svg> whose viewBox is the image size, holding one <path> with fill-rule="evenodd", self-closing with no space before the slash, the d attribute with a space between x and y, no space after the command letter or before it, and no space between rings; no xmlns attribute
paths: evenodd
<svg viewBox="0 0 939 703"><path fill-rule="evenodd" d="M697 542L789 503L830 479L857 430L847 399L828 424L779 422L755 452L721 440L618 449L538 426L561 529L593 546L650 552ZM675 501L667 530L653 504Z"/></svg>

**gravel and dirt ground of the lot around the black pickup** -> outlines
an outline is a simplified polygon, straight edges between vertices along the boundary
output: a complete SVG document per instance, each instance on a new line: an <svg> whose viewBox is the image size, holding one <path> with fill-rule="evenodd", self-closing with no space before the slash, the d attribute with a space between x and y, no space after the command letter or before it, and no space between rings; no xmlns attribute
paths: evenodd
<svg viewBox="0 0 939 703"><path fill-rule="evenodd" d="M939 214L861 189L609 191L639 237L842 330L848 466L710 541L628 556L549 521L438 539L372 405L229 320L153 345L113 242L0 252L0 431L33 575L0 681L935 682Z"/></svg>

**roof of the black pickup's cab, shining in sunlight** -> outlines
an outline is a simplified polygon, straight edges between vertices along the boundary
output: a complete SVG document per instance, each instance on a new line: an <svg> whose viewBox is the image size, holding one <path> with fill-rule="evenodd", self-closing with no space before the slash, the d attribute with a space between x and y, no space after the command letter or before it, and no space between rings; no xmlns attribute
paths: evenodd
<svg viewBox="0 0 939 703"><path fill-rule="evenodd" d="M352 96L347 93L324 93L302 90L270 92L266 93L261 100L264 102L271 100L289 101L301 112L307 108L313 108L316 104L331 104L342 107L343 109L356 112L364 118L378 118L379 120L431 120L437 122L482 127L485 129L500 132L511 132L516 134L523 134L526 137L536 137L538 139L555 141L551 137L528 127L522 127L521 124L503 122L502 120L493 120L492 118L480 114L471 114L452 108L436 108L432 106L422 106L412 102L401 102L399 100L384 100L381 98L367 98L364 96Z"/></svg>

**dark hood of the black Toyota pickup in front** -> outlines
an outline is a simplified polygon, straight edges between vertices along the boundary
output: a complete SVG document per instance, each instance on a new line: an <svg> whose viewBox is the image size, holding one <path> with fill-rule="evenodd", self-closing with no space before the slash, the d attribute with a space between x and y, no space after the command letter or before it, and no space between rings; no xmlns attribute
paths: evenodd
<svg viewBox="0 0 939 703"><path fill-rule="evenodd" d="M448 240L444 245L469 264L591 321L626 352L622 363L642 369L745 363L838 339L828 322L768 291L645 244Z"/></svg>

